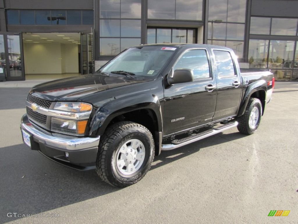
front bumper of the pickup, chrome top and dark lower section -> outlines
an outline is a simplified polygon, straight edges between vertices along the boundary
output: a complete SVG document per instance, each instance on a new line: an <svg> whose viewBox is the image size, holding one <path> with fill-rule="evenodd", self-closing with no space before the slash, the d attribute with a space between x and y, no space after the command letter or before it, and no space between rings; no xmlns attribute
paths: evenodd
<svg viewBox="0 0 298 224"><path fill-rule="evenodd" d="M79 170L95 165L100 136L90 138L50 133L32 124L27 114L21 119L21 130L30 135L32 150L55 162Z"/></svg>

